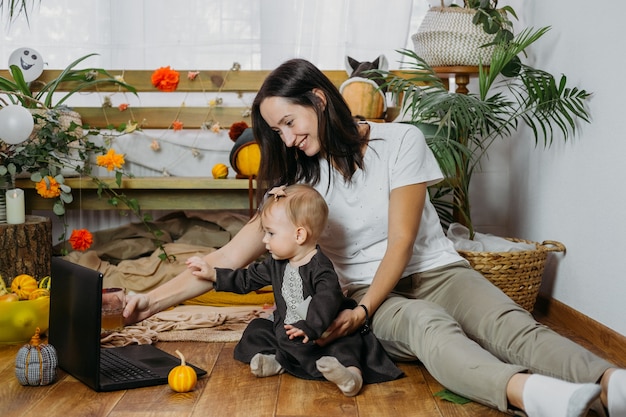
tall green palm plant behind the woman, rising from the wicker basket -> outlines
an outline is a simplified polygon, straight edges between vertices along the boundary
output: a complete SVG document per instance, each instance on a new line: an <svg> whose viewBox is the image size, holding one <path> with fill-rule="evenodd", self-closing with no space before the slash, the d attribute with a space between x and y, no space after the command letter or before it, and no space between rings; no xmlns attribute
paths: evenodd
<svg viewBox="0 0 626 417"><path fill-rule="evenodd" d="M535 144L549 147L557 133L567 140L576 133L579 120L589 122L588 92L568 87L565 75L557 81L518 58L549 29L525 29L510 41L497 42L490 66L478 68L478 93L449 92L436 72L410 50L399 51L408 58L408 71L380 73L388 91L403 97L404 119L422 128L447 178L431 190L444 226L457 221L473 238L470 181L497 139L526 125Z"/></svg>

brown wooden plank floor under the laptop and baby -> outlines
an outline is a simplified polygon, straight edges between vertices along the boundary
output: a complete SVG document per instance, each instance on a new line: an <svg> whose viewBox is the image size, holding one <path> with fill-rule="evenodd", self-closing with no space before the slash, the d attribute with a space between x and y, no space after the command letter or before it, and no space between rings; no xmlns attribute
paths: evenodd
<svg viewBox="0 0 626 417"><path fill-rule="evenodd" d="M541 320L541 318L540 318ZM547 323L552 325L552 323ZM567 329L555 329L600 352ZM209 371L191 393L179 394L167 385L97 393L59 370L54 384L23 387L14 375L20 346L0 345L0 416L126 417L126 416L246 416L246 417L497 417L506 414L476 403L453 404L433 394L443 387L419 363L399 366L406 377L366 385L357 397L343 396L330 382L305 381L290 375L254 377L247 365L233 359L235 343L166 342L158 346Z"/></svg>

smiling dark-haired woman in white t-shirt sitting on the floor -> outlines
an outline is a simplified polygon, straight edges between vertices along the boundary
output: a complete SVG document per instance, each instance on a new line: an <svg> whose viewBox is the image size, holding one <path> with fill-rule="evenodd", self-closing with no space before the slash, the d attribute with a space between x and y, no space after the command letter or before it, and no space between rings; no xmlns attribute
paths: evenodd
<svg viewBox="0 0 626 417"><path fill-rule="evenodd" d="M303 182L324 196L320 247L365 306L343 310L317 343L369 321L392 358L419 359L442 385L482 404L555 417L583 416L595 402L626 416L626 370L538 324L456 253L428 199L442 174L417 128L356 123L328 78L301 59L268 76L252 122L259 192ZM247 265L263 253L261 238L256 216L205 259ZM125 316L137 321L209 288L185 271L131 298Z"/></svg>

